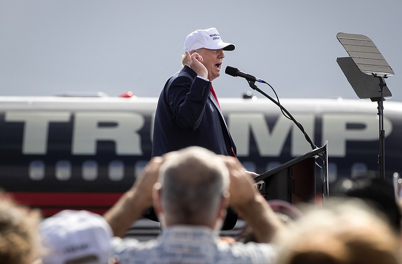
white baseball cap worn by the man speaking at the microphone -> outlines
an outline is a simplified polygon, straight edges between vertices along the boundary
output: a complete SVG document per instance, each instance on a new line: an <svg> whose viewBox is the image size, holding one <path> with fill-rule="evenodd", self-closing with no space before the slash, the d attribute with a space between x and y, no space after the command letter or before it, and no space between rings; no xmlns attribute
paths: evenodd
<svg viewBox="0 0 402 264"><path fill-rule="evenodd" d="M223 42L217 29L210 28L196 30L185 38L184 51L192 51L200 48L232 51L236 46L232 43Z"/></svg>

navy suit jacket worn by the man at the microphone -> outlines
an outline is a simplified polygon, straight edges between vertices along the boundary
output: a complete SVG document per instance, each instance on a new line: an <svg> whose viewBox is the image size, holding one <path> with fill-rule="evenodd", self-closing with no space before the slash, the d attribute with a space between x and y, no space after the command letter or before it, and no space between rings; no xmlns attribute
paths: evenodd
<svg viewBox="0 0 402 264"><path fill-rule="evenodd" d="M188 66L166 82L156 108L152 157L189 146L232 156L236 146L210 92L211 82L196 78Z"/></svg>

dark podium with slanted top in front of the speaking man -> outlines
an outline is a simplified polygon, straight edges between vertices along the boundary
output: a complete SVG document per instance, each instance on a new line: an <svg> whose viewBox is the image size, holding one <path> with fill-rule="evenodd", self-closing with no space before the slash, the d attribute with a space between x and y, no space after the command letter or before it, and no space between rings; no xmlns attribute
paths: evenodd
<svg viewBox="0 0 402 264"><path fill-rule="evenodd" d="M320 158L322 165L316 163ZM291 204L316 198L316 166L323 170L322 197L328 196L327 143L254 178L266 200L280 199Z"/></svg>

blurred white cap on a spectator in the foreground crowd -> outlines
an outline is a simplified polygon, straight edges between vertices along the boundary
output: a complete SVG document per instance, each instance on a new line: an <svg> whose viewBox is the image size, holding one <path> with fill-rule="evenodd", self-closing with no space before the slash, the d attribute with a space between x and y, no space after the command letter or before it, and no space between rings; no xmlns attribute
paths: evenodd
<svg viewBox="0 0 402 264"><path fill-rule="evenodd" d="M112 256L113 232L100 215L88 211L63 210L39 225L43 264L107 264Z"/></svg>

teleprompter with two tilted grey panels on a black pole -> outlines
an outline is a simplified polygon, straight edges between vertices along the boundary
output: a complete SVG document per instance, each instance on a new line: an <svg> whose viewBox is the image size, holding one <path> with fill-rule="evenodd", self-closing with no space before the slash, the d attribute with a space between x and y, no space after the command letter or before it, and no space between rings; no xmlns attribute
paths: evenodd
<svg viewBox="0 0 402 264"><path fill-rule="evenodd" d="M385 78L394 72L374 43L360 34L338 33L337 38L350 57L337 58L347 80L360 99L377 102L379 115L379 178L385 179L385 130L384 106L385 98L392 96L385 83Z"/></svg>

